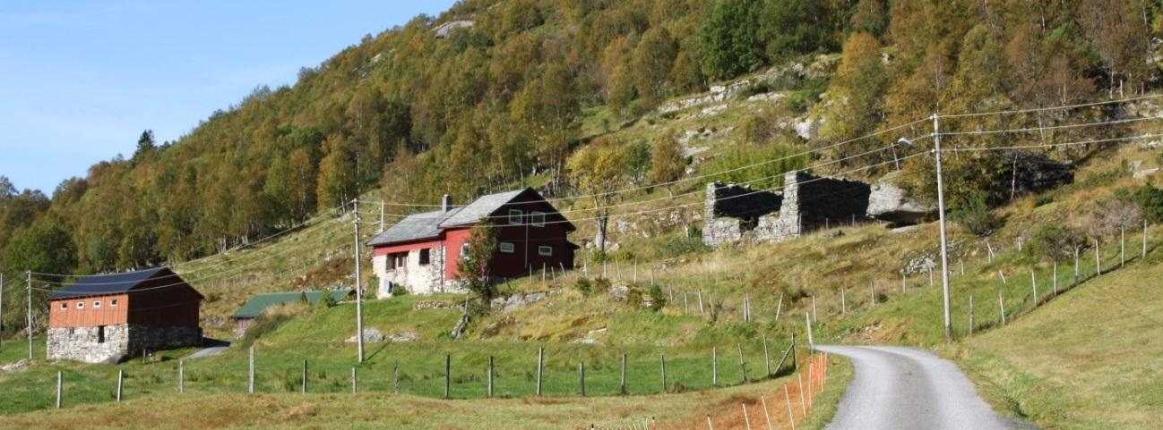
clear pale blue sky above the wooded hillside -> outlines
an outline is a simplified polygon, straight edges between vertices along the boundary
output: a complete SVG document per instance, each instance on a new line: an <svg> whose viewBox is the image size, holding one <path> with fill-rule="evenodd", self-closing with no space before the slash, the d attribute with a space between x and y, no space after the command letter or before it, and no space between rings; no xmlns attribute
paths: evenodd
<svg viewBox="0 0 1163 430"><path fill-rule="evenodd" d="M51 194L438 1L3 1L0 175Z"/></svg>

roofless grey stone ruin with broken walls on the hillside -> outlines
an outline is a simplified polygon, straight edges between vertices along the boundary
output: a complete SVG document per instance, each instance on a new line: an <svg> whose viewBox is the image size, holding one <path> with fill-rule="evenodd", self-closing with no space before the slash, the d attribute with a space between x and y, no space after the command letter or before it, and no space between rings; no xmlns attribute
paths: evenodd
<svg viewBox="0 0 1163 430"><path fill-rule="evenodd" d="M784 175L780 192L707 184L702 242L783 241L804 232L868 220L869 184L802 172Z"/></svg>

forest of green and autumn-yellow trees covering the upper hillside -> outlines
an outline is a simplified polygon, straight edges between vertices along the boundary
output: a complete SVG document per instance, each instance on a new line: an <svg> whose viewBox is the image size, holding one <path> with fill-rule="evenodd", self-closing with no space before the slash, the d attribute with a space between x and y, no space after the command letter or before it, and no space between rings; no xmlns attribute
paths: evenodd
<svg viewBox="0 0 1163 430"><path fill-rule="evenodd" d="M1158 85L1160 7L466 0L302 68L293 87L259 87L177 141L143 133L131 156L63 182L51 202L0 182L3 269L95 272L197 257L378 188L421 203L520 183L566 194L566 159L601 133L584 131L594 129L587 122L613 130L673 96L820 53L842 57L830 81L801 86L795 109L816 121L821 141L937 110L1129 96ZM958 168L990 172L955 166L954 181Z"/></svg>

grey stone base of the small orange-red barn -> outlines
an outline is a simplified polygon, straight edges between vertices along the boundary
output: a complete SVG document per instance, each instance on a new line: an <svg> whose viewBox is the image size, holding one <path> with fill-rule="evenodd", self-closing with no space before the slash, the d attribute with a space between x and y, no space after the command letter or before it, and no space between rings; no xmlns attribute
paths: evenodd
<svg viewBox="0 0 1163 430"><path fill-rule="evenodd" d="M49 359L119 363L142 349L195 347L202 342L199 327L116 325L49 329Z"/></svg>

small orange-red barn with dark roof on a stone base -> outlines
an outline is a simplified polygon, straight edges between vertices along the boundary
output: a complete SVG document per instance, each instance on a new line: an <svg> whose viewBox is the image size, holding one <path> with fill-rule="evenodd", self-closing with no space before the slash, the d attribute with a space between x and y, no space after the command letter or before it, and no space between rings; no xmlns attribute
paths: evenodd
<svg viewBox="0 0 1163 430"><path fill-rule="evenodd" d="M81 277L49 296L49 359L117 363L198 345L202 299L166 268Z"/></svg>

